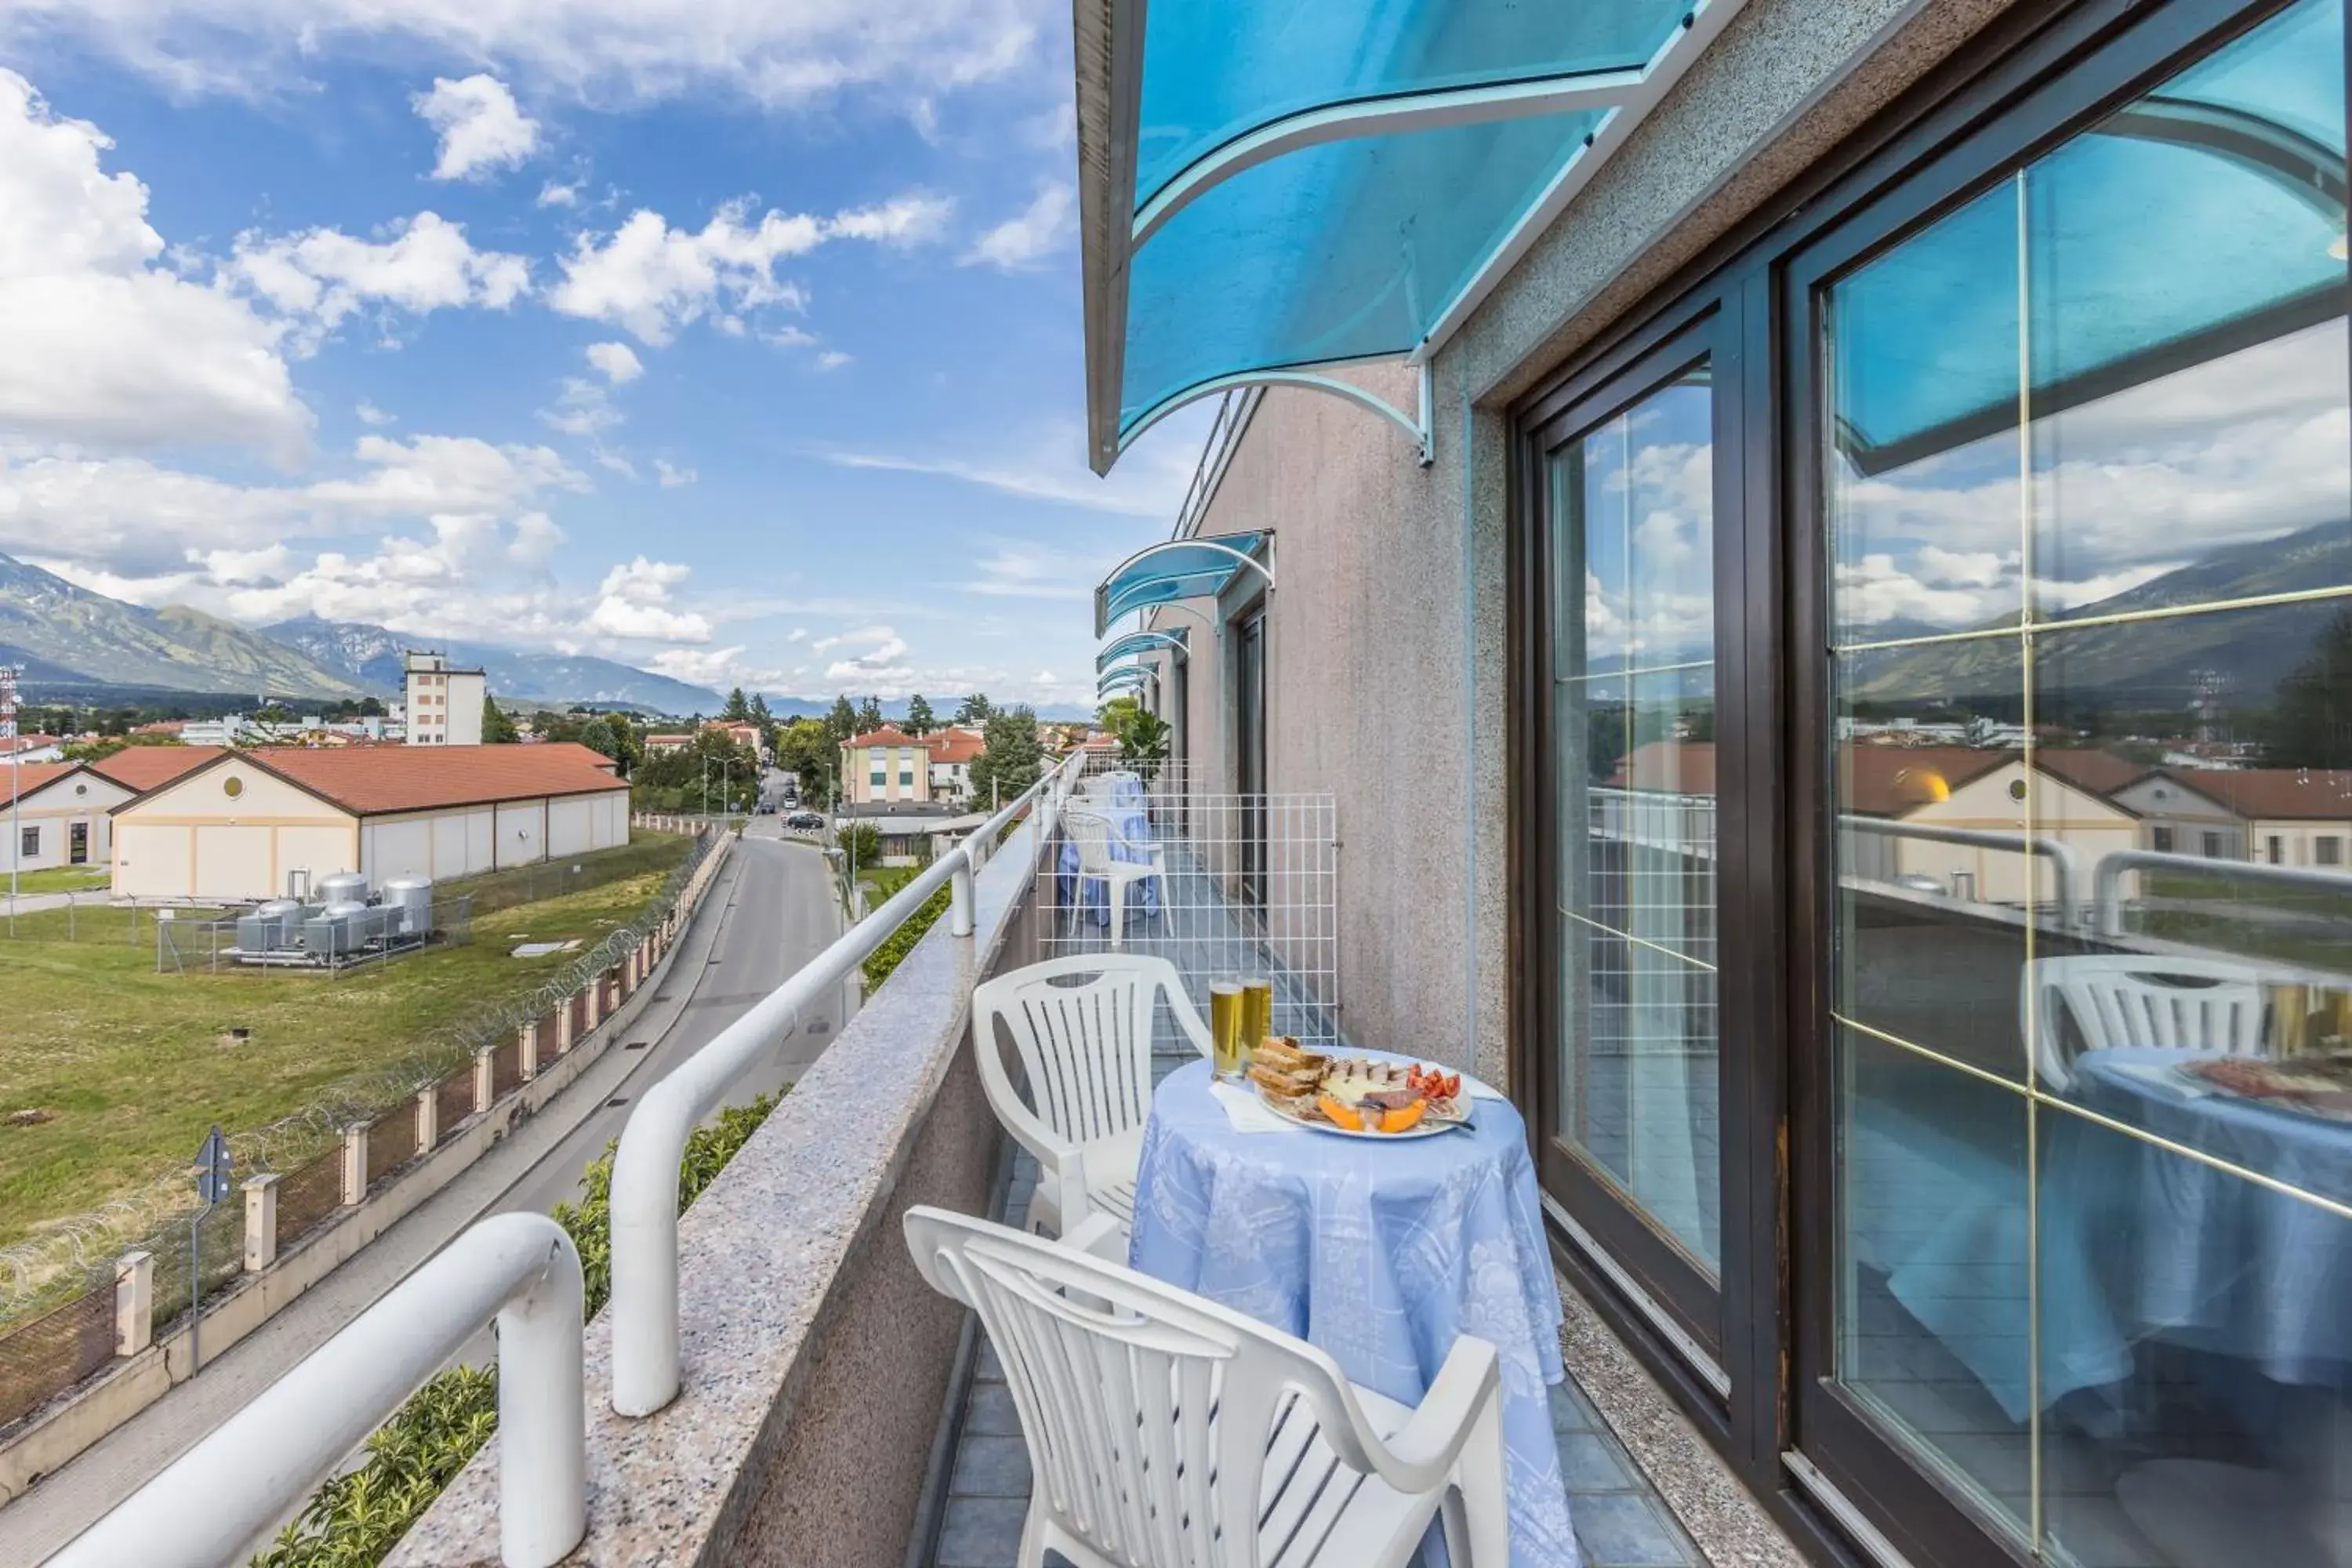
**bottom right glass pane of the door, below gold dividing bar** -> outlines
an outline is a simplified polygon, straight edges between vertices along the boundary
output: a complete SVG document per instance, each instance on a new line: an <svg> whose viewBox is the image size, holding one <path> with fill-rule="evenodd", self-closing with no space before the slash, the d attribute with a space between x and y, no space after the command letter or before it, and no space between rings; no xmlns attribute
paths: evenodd
<svg viewBox="0 0 2352 1568"><path fill-rule="evenodd" d="M2352 1561L2352 1220L2063 1110L2039 1140L2049 1540L2086 1568Z"/></svg>

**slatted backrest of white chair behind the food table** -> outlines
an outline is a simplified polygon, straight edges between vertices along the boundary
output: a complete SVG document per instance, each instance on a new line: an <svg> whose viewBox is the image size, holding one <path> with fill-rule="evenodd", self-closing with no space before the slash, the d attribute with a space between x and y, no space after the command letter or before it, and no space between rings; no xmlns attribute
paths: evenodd
<svg viewBox="0 0 2352 1568"><path fill-rule="evenodd" d="M1056 985L1073 976L1080 985ZM981 1072L1002 1074L997 1020L1030 1084L1035 1114L1070 1143L1115 1138L1152 1112L1152 1013L1162 990L1181 997L1167 959L1075 954L997 976L971 992ZM1002 1086L1011 1093L1011 1084ZM1077 1215L1070 1215L1073 1220Z"/></svg>

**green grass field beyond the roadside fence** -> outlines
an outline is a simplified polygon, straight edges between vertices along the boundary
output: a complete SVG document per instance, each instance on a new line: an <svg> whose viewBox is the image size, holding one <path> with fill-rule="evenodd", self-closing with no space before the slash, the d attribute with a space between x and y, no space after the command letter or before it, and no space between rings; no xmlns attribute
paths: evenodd
<svg viewBox="0 0 2352 1568"><path fill-rule="evenodd" d="M675 858L687 851L677 839ZM111 1199L176 1197L212 1124L230 1133L315 1105L463 1018L539 987L569 954L515 959L515 938L597 940L661 889L666 870L524 903L475 922L463 947L372 964L346 978L275 971L155 973L153 917L125 910L16 917L0 938L0 1246ZM223 1044L247 1027L245 1044Z"/></svg>

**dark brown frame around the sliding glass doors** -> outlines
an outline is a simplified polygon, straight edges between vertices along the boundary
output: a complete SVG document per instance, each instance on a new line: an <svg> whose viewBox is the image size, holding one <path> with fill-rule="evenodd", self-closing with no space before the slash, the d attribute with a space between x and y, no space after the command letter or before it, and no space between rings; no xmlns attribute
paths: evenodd
<svg viewBox="0 0 2352 1568"><path fill-rule="evenodd" d="M1818 289L1900 244L2018 165L2070 139L2190 59L2211 54L2291 0L2077 0L2013 7L1917 82L1893 108L1736 223L1651 296L1510 409L1510 954L1512 1081L1543 1168L1550 1067L1545 990L1552 898L1541 853L1550 795L1550 670L1534 625L1545 616L1538 520L1543 433L1644 353L1705 313L1738 322L1717 362L1717 395L1736 402L1736 444L1717 409L1717 607L1743 604L1738 642L1717 661L1717 912L1726 936L1719 1011L1724 1086L1722 1399L1672 1335L1618 1288L1621 1258L1595 1260L1566 1232L1555 1258L1635 1354L1675 1394L1740 1479L1825 1561L1851 1542L1828 1523L1783 1462L1802 1450L1872 1528L1917 1568L2025 1561L1976 1507L1898 1455L1820 1380L1832 1335L1835 1124L1828 997L1828 602L1816 463ZM1733 480L1726 484L1726 473ZM1726 489L1740 498L1736 524ZM1729 538L1740 548L1726 548ZM1736 581L1726 562L1738 559ZM1722 628L1719 628L1722 632ZM1816 656L1804 656L1813 649ZM1731 708L1738 708L1733 715ZM1816 757L1816 750L1820 752ZM1731 813L1745 823L1733 846ZM1733 966L1731 936L1743 954ZM1733 973L1738 969L1738 973ZM1736 1051L1731 1018L1755 1027ZM1733 1126L1738 1124L1738 1126ZM1736 1143L1738 1140L1738 1143ZM1550 1187L1550 1178L1548 1178ZM1743 1213L1731 1206L1733 1187ZM1559 1201L1557 1192L1548 1192ZM1637 1225L1635 1220L1628 1222ZM1590 1229L1590 1227L1588 1227ZM1599 1237L1609 1246L1606 1237ZM1733 1298L1738 1298L1733 1302Z"/></svg>

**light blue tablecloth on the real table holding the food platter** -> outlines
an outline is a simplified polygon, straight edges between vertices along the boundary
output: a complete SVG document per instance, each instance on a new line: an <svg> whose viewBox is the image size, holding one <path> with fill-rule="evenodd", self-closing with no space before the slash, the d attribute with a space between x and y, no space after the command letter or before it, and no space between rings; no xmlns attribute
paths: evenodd
<svg viewBox="0 0 2352 1568"><path fill-rule="evenodd" d="M1209 1063L1160 1084L1136 1178L1134 1267L1322 1347L1355 1382L1418 1403L1458 1335L1503 1363L1515 1568L1576 1568L1545 1387L1562 1380L1559 1288L1526 1126L1472 1100L1470 1128L1367 1145L1237 1133ZM1430 1547L1444 1561L1442 1544Z"/></svg>

